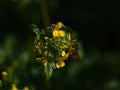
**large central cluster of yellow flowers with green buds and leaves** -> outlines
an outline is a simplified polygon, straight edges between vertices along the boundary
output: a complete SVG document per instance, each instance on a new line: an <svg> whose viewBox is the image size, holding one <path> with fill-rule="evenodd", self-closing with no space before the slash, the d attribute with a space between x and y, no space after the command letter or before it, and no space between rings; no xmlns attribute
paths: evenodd
<svg viewBox="0 0 120 90"><path fill-rule="evenodd" d="M33 28L36 34L34 40L36 60L43 64L47 77L51 77L53 69L64 67L65 60L75 50L73 45L76 39L72 39L71 32L67 29L61 22L41 31L37 27Z"/></svg>

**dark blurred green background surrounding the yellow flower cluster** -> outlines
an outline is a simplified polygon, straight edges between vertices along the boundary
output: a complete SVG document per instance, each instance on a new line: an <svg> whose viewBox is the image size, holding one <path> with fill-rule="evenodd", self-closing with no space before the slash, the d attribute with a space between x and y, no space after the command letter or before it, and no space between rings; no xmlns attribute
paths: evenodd
<svg viewBox="0 0 120 90"><path fill-rule="evenodd" d="M120 90L119 10L114 0L0 0L0 73L8 73L1 90L12 83L20 90ZM77 32L80 59L45 81L29 25L59 21Z"/></svg>

